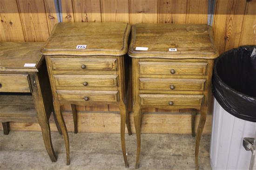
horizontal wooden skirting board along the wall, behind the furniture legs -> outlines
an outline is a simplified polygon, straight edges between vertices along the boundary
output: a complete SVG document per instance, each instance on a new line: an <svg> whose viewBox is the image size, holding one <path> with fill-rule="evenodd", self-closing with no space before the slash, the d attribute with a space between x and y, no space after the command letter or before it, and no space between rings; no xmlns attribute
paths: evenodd
<svg viewBox="0 0 256 170"><path fill-rule="evenodd" d="M68 132L74 132L73 116L71 112L63 113ZM132 132L135 133L133 114L130 114ZM190 114L145 113L142 118L142 133L191 133ZM204 134L211 133L212 115L206 120ZM199 123L196 116L195 125ZM52 131L57 131L53 117L50 118ZM11 130L41 131L36 123L10 123ZM2 129L2 126L0 126ZM78 132L120 133L120 114L78 112ZM127 132L127 129L126 129Z"/></svg>

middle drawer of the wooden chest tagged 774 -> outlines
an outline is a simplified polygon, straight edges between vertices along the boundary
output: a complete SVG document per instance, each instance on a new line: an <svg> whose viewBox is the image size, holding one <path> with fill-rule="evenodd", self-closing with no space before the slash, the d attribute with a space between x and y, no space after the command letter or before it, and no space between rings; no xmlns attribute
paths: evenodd
<svg viewBox="0 0 256 170"><path fill-rule="evenodd" d="M90 87L117 87L117 75L54 75L56 89L77 88L84 90Z"/></svg>

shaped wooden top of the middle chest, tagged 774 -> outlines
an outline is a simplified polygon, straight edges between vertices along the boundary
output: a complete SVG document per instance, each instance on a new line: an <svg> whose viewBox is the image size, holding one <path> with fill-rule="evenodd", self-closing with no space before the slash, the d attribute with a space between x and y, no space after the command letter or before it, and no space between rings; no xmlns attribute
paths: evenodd
<svg viewBox="0 0 256 170"><path fill-rule="evenodd" d="M58 23L41 49L44 55L112 55L127 53L128 23ZM77 49L77 45L87 45Z"/></svg>

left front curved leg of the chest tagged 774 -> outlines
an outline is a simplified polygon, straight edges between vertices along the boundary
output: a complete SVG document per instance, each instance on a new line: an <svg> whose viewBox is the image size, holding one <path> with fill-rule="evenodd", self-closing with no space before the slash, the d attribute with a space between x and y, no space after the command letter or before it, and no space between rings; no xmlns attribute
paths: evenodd
<svg viewBox="0 0 256 170"><path fill-rule="evenodd" d="M69 160L69 139L68 139L68 134L67 134L67 127L66 127L65 121L63 119L62 113L61 113L61 106L60 106L59 102L57 102L57 101L54 101L54 110L55 110L57 120L60 124L61 132L63 134L63 138L64 138L64 141L65 141L66 154L67 154L67 165L69 165L70 164L70 160Z"/></svg>

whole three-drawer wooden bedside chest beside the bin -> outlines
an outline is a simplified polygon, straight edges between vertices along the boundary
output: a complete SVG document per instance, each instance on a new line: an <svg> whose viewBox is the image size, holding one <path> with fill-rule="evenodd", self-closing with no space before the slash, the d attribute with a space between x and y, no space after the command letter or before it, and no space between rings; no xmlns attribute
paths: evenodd
<svg viewBox="0 0 256 170"><path fill-rule="evenodd" d="M141 150L141 109L196 109L195 165L206 120L214 58L218 52L208 25L136 24L128 55L133 67L133 111L137 137L135 168Z"/></svg>

